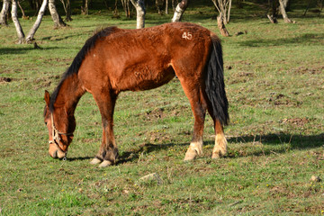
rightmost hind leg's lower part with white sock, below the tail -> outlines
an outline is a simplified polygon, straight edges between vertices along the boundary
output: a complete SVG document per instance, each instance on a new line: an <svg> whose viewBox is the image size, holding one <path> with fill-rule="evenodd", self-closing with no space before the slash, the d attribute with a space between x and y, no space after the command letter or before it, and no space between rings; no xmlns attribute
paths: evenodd
<svg viewBox="0 0 324 216"><path fill-rule="evenodd" d="M215 138L215 146L212 149L211 158L217 159L221 156L225 156L227 153L227 140L224 135L223 127L218 120L214 120L215 130L216 130L216 138Z"/></svg>

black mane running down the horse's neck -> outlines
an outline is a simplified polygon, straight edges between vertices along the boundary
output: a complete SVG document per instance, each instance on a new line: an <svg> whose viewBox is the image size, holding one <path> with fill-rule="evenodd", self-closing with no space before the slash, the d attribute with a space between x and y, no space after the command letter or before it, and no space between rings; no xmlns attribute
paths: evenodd
<svg viewBox="0 0 324 216"><path fill-rule="evenodd" d="M67 79L68 76L77 74L79 68L81 67L82 61L84 60L86 54L94 48L95 42L103 37L106 37L110 35L112 32L118 30L117 27L112 26L105 28L103 30L97 30L94 33L94 36L89 38L88 40L85 41L85 45L83 48L76 54L76 58L73 59L72 64L70 67L67 68L67 71L63 74L57 88L54 90L53 94L50 96L50 103L49 103L49 110L50 112L54 111L54 103L56 102L56 99L58 97L58 92L63 84L63 81Z"/></svg>

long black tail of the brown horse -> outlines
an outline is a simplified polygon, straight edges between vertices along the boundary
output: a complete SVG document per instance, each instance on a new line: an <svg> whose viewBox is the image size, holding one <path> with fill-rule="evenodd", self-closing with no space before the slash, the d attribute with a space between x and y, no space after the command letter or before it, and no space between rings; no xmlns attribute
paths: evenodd
<svg viewBox="0 0 324 216"><path fill-rule="evenodd" d="M229 102L225 92L221 44L216 35L211 35L211 40L211 57L205 74L205 92L211 105L209 108L211 117L220 121L222 125L227 125Z"/></svg>

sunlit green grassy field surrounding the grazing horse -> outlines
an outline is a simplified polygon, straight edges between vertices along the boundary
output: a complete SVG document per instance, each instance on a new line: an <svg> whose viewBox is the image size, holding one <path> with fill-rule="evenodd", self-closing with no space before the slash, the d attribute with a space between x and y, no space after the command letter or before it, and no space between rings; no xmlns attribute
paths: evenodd
<svg viewBox="0 0 324 216"><path fill-rule="evenodd" d="M323 19L295 10L297 23L274 25L260 18L262 11L239 13L233 11L227 28L247 33L221 38L229 154L211 160L207 116L204 155L192 163L183 158L193 117L177 79L120 95L116 166L89 164L102 134L91 94L77 106L67 161L49 157L44 90L54 90L96 28L134 28L135 20L74 15L70 27L54 30L45 16L35 36L41 49L16 45L13 23L1 27L0 215L324 215L324 183L311 180L324 179ZM188 8L184 21L219 33L214 15L212 7ZM146 24L170 19L148 11ZM21 22L26 32L33 21ZM139 180L152 173L160 181Z"/></svg>

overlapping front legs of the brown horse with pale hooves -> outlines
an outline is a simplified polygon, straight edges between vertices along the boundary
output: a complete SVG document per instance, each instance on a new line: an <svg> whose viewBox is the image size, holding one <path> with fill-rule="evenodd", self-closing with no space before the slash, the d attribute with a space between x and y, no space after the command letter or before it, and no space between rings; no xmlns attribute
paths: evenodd
<svg viewBox="0 0 324 216"><path fill-rule="evenodd" d="M100 167L110 166L115 163L118 157L118 148L113 135L113 110L117 95L101 92L94 95L103 123L103 140L97 155L90 162L91 164L100 164Z"/></svg>

